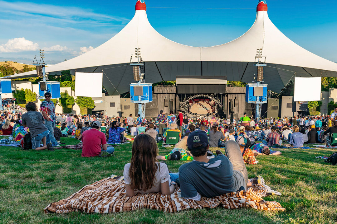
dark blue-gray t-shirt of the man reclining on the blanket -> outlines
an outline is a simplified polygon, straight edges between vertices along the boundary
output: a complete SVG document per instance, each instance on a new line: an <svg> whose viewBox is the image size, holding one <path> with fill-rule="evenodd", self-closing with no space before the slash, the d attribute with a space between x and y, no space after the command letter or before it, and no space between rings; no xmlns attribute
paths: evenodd
<svg viewBox="0 0 337 224"><path fill-rule="evenodd" d="M208 163L185 163L179 167L181 196L193 198L200 193L212 198L245 189L243 176L233 173L233 165L225 155L216 155Z"/></svg>

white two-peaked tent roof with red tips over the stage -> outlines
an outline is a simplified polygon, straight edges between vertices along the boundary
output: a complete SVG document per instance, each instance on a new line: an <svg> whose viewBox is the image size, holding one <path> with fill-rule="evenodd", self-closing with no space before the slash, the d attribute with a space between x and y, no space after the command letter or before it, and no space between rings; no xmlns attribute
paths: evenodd
<svg viewBox="0 0 337 224"><path fill-rule="evenodd" d="M133 80L130 56L135 48L141 48L149 83L175 80L177 75L225 75L229 81L251 82L252 73L256 73L256 49L262 48L268 63L264 81L271 90L279 92L294 72L297 77L337 76L336 63L288 39L271 22L267 10L266 1L259 0L253 26L236 40L213 47L191 47L155 31L148 21L144 1L138 0L134 17L116 36L85 54L47 67L46 72L52 75L64 70L103 70L103 86L109 94L127 92ZM32 76L36 71L5 78Z"/></svg>

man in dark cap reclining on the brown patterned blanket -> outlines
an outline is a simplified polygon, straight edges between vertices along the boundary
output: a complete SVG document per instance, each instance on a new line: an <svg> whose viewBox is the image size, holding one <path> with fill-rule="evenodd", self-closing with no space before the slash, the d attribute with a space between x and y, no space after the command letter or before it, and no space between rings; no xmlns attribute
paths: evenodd
<svg viewBox="0 0 337 224"><path fill-rule="evenodd" d="M179 168L181 196L200 200L201 196L212 198L221 194L246 189L247 169L240 148L235 141L227 141L226 156L220 154L207 158L209 148L205 131L194 131L188 135L187 147L193 161Z"/></svg>

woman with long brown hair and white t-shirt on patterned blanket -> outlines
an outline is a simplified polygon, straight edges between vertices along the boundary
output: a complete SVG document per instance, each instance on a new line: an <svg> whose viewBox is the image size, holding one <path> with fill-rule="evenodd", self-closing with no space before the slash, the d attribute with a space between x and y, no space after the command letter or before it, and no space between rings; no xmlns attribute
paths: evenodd
<svg viewBox="0 0 337 224"><path fill-rule="evenodd" d="M161 192L170 195L176 188L178 173L169 173L167 165L159 163L156 141L147 134L137 135L132 144L131 163L124 166L126 195ZM172 180L172 181L171 181Z"/></svg>

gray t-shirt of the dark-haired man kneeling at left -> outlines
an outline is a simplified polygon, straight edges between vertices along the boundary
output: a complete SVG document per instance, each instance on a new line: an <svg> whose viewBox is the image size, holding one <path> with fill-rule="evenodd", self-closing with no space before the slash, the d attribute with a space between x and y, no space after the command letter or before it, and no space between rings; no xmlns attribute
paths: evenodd
<svg viewBox="0 0 337 224"><path fill-rule="evenodd" d="M22 125L27 125L31 138L48 130L43 122L44 118L42 114L37 111L28 111L22 115Z"/></svg>

